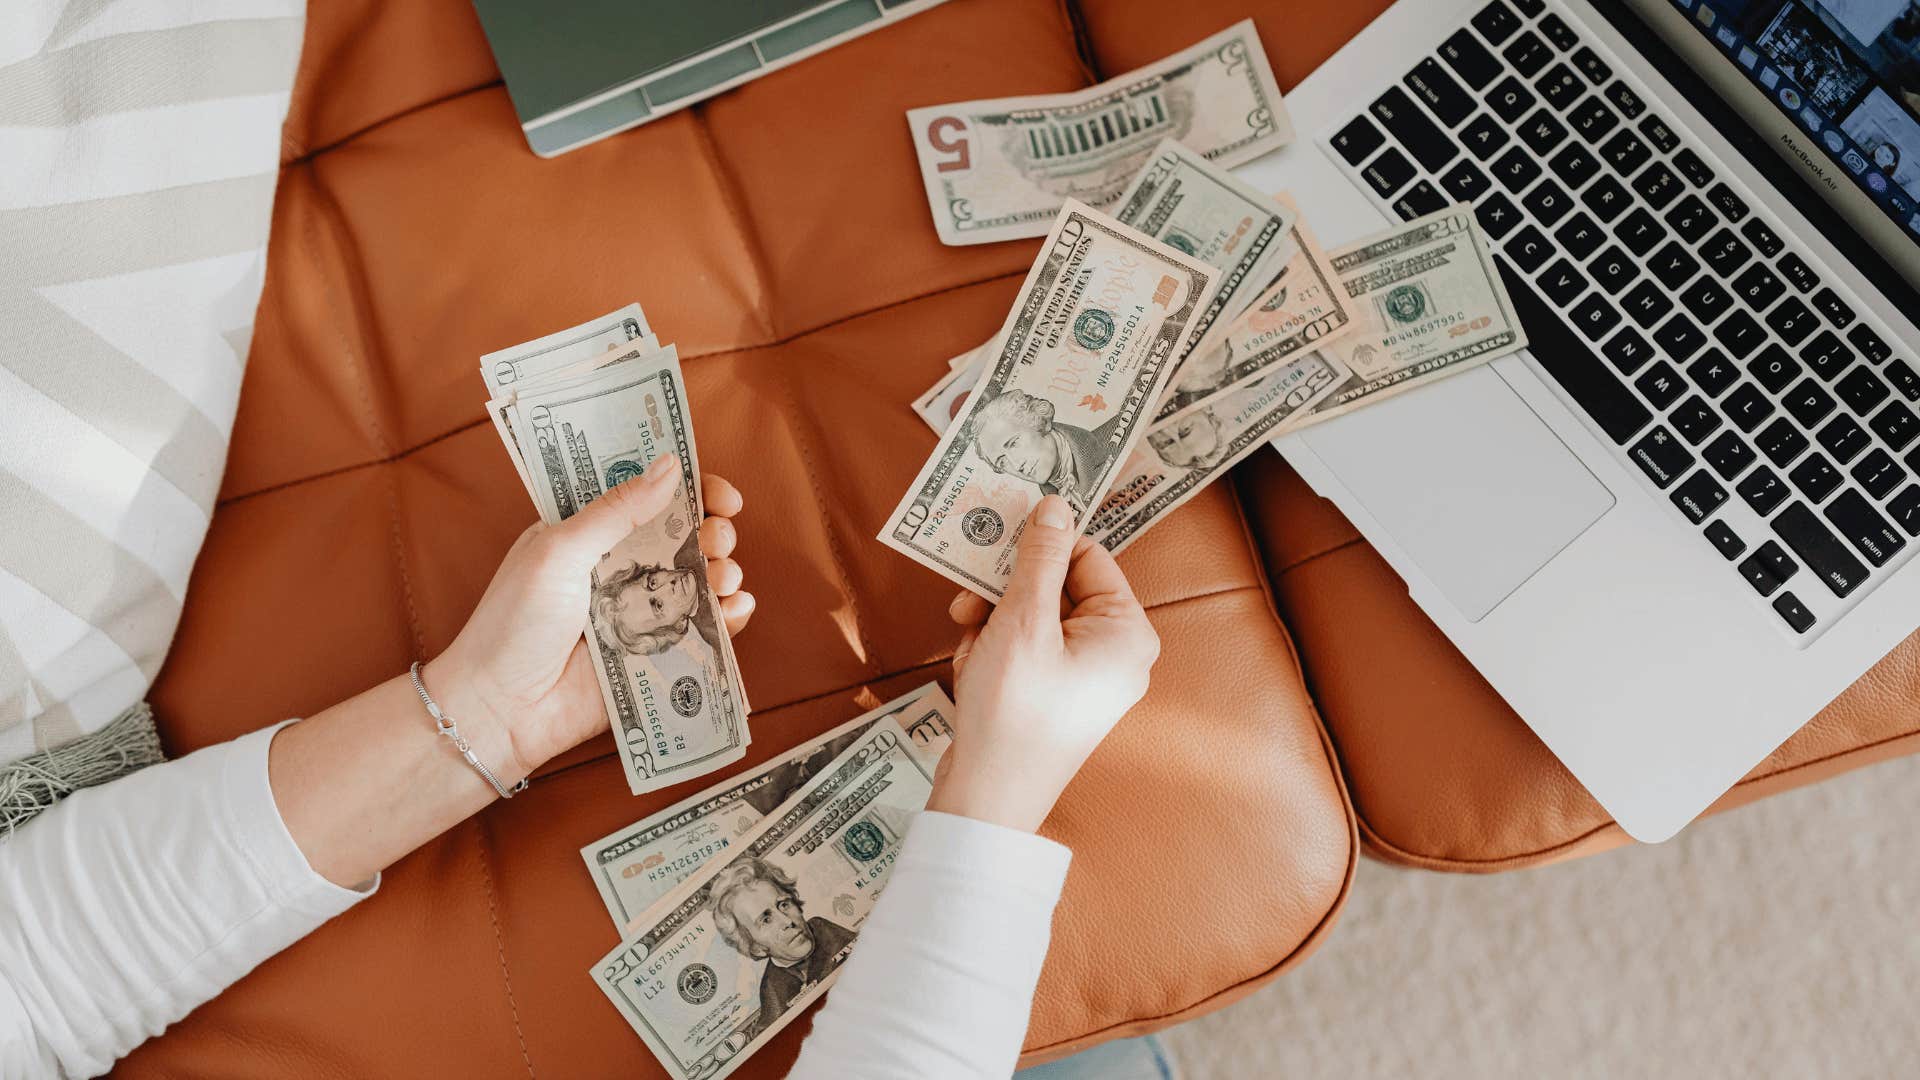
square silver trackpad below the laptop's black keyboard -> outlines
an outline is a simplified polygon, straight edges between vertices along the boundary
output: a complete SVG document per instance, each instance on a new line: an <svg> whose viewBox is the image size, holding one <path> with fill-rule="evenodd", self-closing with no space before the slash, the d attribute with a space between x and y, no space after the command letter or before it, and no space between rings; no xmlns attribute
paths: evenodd
<svg viewBox="0 0 1920 1080"><path fill-rule="evenodd" d="M1302 438L1471 623L1613 507L1613 492L1492 367Z"/></svg>

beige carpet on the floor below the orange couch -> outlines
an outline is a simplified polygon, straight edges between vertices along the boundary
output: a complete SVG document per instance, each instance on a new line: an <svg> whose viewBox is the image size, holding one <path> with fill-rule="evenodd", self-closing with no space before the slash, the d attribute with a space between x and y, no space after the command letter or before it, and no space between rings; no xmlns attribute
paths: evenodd
<svg viewBox="0 0 1920 1080"><path fill-rule="evenodd" d="M1920 759L1538 871L1363 859L1319 953L1162 1038L1185 1080L1920 1076Z"/></svg>

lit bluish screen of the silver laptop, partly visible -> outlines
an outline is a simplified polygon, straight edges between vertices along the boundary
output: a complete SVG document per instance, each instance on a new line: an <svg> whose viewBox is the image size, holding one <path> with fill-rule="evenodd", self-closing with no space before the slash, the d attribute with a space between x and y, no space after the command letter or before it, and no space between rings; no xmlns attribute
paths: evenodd
<svg viewBox="0 0 1920 1080"><path fill-rule="evenodd" d="M1884 215L1885 223L1870 227L1849 213L1884 254L1910 267L1920 248L1920 0L1667 4L1778 110L1782 142L1793 154L1826 156L1834 167L1799 161L1818 175L1818 188L1839 194L1832 173L1853 188L1853 198L1834 202ZM1715 81L1724 85L1724 77ZM1889 252L1889 242L1908 258Z"/></svg>

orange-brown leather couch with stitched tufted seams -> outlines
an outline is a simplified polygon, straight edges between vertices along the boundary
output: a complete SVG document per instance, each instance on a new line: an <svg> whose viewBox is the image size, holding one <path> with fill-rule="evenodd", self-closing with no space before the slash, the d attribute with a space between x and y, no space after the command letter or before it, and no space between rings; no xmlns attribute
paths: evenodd
<svg viewBox="0 0 1920 1080"><path fill-rule="evenodd" d="M701 457L749 498L749 761L948 680L950 588L870 536L933 444L906 402L998 325L1033 242L941 246L902 111L1081 86L1248 8L1284 88L1384 2L952 0L553 161L465 0L313 4L234 448L154 688L169 749L442 648L534 519L478 356L628 300L680 344ZM1444 869L1622 840L1277 455L1121 563L1165 651L1046 826L1075 861L1029 1063L1298 963L1361 836ZM1908 642L1728 801L1912 749L1916 700ZM576 849L685 788L630 798L611 744L586 744L119 1074L657 1076L586 978L614 930ZM803 1034L741 1074L781 1074Z"/></svg>

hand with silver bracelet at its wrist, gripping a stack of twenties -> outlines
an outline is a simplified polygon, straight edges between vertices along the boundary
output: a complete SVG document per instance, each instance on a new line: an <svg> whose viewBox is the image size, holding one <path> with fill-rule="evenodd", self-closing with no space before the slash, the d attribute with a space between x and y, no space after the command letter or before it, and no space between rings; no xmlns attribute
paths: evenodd
<svg viewBox="0 0 1920 1080"><path fill-rule="evenodd" d="M501 782L520 776L589 736L607 730L593 657L582 640L589 575L636 527L653 521L678 490L680 461L655 459L636 477L561 525L534 525L501 559L486 594L444 653L420 678L461 734L484 746L482 759ZM753 617L753 594L732 559L737 540L730 521L741 496L720 477L701 479L707 519L701 552L707 580L720 598L728 634ZM486 753L493 753L488 759Z"/></svg>

